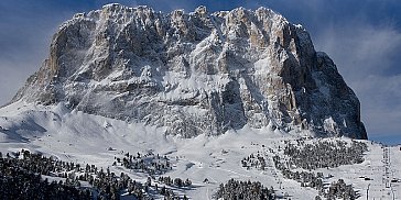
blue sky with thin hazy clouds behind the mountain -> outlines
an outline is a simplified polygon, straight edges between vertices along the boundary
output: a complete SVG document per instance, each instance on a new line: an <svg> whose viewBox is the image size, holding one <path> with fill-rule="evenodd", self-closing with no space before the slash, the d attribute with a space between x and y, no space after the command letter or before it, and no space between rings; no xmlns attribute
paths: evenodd
<svg viewBox="0 0 401 200"><path fill-rule="evenodd" d="M371 140L401 144L401 1L399 0L1 0L0 104L7 103L48 53L57 26L74 13L120 2L156 11L271 8L310 32L361 101Z"/></svg>

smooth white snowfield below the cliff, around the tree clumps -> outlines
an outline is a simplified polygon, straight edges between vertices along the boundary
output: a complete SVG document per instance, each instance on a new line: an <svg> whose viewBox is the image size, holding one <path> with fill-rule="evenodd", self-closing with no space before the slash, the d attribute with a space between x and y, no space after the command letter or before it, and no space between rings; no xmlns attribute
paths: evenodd
<svg viewBox="0 0 401 200"><path fill-rule="evenodd" d="M300 138L291 133L245 126L220 136L181 138L164 134L163 127L85 114L62 104L43 107L24 102L1 108L0 126L0 151L3 155L23 148L65 162L109 167L116 175L123 171L142 182L147 181L147 174L112 166L115 157L137 152L165 155L173 168L162 176L191 179L191 188L172 187L175 193L191 199L213 199L219 185L231 178L260 181L265 187L273 187L277 196L284 199L314 199L318 195L316 189L301 187L300 182L284 178L273 160L267 159L265 170L247 169L241 165L241 160L250 154L259 152L272 156L268 149L280 154L284 141ZM307 138L306 142L323 140L351 142L350 138ZM401 146L359 142L368 145L361 164L312 171L323 173L327 185L338 179L351 184L358 199L401 199Z"/></svg>

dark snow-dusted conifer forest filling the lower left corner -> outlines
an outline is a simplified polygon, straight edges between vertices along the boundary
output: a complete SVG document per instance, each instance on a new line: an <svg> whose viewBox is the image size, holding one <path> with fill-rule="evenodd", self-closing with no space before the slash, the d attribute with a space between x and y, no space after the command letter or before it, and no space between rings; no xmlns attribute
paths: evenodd
<svg viewBox="0 0 401 200"><path fill-rule="evenodd" d="M51 177L56 180L48 181ZM154 179L154 177L152 177ZM189 179L159 177L147 182L131 179L127 174L115 174L110 168L63 162L29 151L0 152L0 199L98 199L119 200L121 195L134 199L187 199L170 188L192 187ZM54 178L52 178L54 179ZM82 182L87 182L84 187ZM158 185L159 184L159 185ZM166 187L167 186L167 187Z"/></svg>

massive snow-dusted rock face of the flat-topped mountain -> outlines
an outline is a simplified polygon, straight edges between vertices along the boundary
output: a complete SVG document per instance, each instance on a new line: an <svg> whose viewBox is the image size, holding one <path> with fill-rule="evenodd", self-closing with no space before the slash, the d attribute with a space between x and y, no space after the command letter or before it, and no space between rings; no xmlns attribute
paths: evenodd
<svg viewBox="0 0 401 200"><path fill-rule="evenodd" d="M264 8L209 13L108 4L76 14L13 101L221 134L246 124L367 138L359 101L308 33Z"/></svg>

